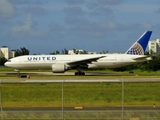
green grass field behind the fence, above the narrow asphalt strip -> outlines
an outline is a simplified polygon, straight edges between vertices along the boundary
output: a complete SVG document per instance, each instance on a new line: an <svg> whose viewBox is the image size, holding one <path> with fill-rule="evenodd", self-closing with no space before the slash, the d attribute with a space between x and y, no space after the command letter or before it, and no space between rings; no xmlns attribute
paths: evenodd
<svg viewBox="0 0 160 120"><path fill-rule="evenodd" d="M125 83L124 105L160 105L160 83ZM2 84L3 107L60 107L61 84ZM65 83L64 106L121 106L120 83Z"/></svg>

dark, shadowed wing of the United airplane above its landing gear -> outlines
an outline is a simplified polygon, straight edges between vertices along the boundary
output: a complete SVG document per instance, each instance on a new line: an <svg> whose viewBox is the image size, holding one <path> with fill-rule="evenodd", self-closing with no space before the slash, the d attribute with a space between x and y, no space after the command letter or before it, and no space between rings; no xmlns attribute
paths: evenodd
<svg viewBox="0 0 160 120"><path fill-rule="evenodd" d="M72 62L68 62L68 65L71 66L76 66L76 65L87 65L88 63L96 62L98 59L103 58L106 56L99 56L99 57L93 57L93 58L88 58L88 59L81 59L81 60L76 60Z"/></svg>

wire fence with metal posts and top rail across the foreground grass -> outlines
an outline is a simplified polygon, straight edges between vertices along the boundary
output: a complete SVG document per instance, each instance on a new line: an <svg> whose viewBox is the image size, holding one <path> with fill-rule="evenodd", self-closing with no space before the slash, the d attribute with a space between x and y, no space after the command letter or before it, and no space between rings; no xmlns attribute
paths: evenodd
<svg viewBox="0 0 160 120"><path fill-rule="evenodd" d="M1 80L2 120L159 120L156 82Z"/></svg>

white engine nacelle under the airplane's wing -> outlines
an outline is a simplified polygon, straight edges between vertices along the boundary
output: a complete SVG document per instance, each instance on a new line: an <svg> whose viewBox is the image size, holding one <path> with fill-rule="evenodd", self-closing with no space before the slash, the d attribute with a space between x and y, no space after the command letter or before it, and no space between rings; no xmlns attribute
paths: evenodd
<svg viewBox="0 0 160 120"><path fill-rule="evenodd" d="M64 73L66 70L66 65L64 63L56 63L52 65L53 73Z"/></svg>

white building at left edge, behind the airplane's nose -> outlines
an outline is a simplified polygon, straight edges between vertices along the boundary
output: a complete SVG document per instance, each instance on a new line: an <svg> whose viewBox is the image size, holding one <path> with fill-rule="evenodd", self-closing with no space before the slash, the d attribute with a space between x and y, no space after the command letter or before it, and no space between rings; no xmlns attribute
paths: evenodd
<svg viewBox="0 0 160 120"><path fill-rule="evenodd" d="M0 48L0 57L5 57L8 60L15 57L15 51L10 51L7 46L3 46Z"/></svg>

